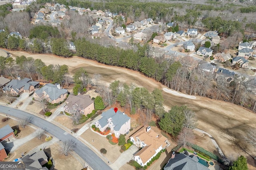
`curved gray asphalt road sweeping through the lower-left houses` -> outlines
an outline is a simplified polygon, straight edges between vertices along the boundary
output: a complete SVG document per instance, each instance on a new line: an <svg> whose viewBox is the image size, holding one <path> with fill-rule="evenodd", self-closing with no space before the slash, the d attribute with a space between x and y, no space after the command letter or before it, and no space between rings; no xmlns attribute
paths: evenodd
<svg viewBox="0 0 256 170"><path fill-rule="evenodd" d="M76 143L74 152L78 154L83 160L85 160L93 169L95 170L111 170L111 168L98 157L92 150L90 150L86 145L80 142L78 139L70 135L68 132L62 130L60 127L25 111L17 110L7 106L0 106L0 111L2 113L11 115L17 118L31 117L31 123L40 127L41 129L46 129L48 133L53 135L59 140L73 140Z"/></svg>

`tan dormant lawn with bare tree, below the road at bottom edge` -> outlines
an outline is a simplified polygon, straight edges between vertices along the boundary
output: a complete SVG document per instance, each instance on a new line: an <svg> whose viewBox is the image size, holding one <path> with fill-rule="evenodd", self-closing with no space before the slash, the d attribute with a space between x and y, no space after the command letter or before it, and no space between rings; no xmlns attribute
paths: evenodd
<svg viewBox="0 0 256 170"><path fill-rule="evenodd" d="M82 164L72 156L72 154L68 154L65 156L60 153L60 145L58 143L54 143L50 146L52 157L55 161L56 170L80 170L82 169Z"/></svg>

